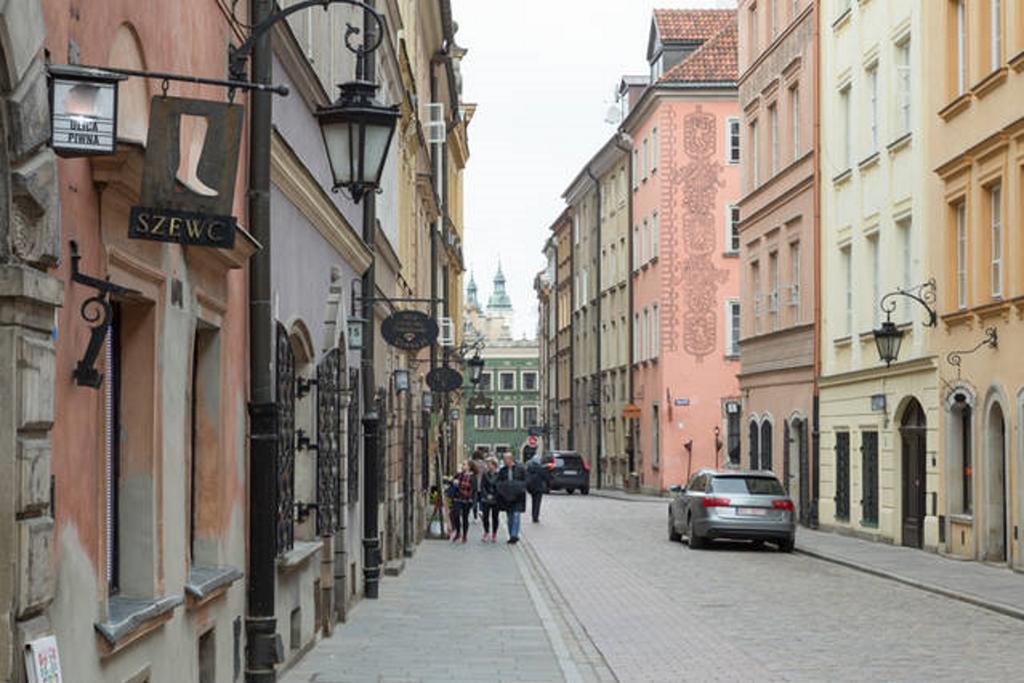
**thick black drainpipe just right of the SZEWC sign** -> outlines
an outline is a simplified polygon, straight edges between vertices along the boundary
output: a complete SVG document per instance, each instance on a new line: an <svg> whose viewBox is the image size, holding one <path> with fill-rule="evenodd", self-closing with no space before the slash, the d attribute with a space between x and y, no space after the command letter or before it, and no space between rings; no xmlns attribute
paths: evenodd
<svg viewBox="0 0 1024 683"><path fill-rule="evenodd" d="M251 0L258 23L270 15L273 0ZM269 84L272 77L270 36L256 42L252 80ZM273 312L270 308L270 125L272 95L253 91L249 122L249 229L263 247L249 263L250 463L249 463L249 584L246 614L246 680L263 683L276 678L281 659L274 616L276 568L275 460L278 411L273 388Z"/></svg>

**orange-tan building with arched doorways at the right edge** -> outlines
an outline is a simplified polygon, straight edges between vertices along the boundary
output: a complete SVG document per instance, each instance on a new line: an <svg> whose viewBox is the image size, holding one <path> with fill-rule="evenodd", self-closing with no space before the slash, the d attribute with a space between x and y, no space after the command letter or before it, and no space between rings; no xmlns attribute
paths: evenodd
<svg viewBox="0 0 1024 683"><path fill-rule="evenodd" d="M1024 568L1024 4L942 0L924 31L938 281L938 510L950 554ZM930 5L931 8L931 5ZM987 343L992 331L997 346ZM952 353L959 352L959 364Z"/></svg>

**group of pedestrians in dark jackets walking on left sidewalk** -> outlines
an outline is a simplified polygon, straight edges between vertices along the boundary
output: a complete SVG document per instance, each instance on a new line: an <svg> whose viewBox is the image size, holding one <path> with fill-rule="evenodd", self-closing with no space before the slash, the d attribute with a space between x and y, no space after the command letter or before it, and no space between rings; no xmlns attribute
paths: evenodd
<svg viewBox="0 0 1024 683"><path fill-rule="evenodd" d="M526 511L526 493L532 498L531 513L540 521L541 497L547 489L547 470L538 470L516 463L511 453L503 454L499 466L494 456L473 459L462 464L452 479L449 496L452 500L452 542L466 543L469 517L482 517L484 543L497 543L498 520L505 513L508 543L519 543L522 513Z"/></svg>

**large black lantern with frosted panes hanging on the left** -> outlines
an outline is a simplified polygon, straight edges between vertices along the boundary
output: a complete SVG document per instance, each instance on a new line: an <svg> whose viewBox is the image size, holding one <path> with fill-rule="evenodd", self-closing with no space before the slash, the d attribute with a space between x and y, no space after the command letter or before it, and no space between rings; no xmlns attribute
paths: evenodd
<svg viewBox="0 0 1024 683"><path fill-rule="evenodd" d="M341 96L315 116L331 163L333 189L347 189L357 204L380 186L399 114L397 105L377 101L375 83L351 81L338 87Z"/></svg>

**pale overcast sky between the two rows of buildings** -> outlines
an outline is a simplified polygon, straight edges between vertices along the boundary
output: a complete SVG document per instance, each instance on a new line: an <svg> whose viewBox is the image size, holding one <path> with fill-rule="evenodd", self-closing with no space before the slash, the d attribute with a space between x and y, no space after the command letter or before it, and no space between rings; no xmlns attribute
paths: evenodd
<svg viewBox="0 0 1024 683"><path fill-rule="evenodd" d="M731 0L453 0L469 128L467 266L480 296L501 259L515 335L537 332L534 276L564 208L562 193L613 131L604 122L624 74L646 74L654 7L734 7ZM468 273L466 282L469 282Z"/></svg>

